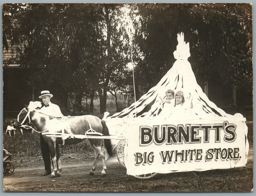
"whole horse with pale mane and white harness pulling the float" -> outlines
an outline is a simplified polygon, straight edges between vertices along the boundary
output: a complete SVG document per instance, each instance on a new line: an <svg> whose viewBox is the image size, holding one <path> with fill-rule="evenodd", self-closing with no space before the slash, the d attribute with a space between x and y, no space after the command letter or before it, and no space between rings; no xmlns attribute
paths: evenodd
<svg viewBox="0 0 256 196"><path fill-rule="evenodd" d="M76 138L70 136L81 136L85 135L86 133L88 133L88 135L100 134L109 136L109 129L105 121L100 120L97 116L83 115L73 117L57 117L49 120L49 115L40 112L41 107L42 103L40 101L30 101L29 105L20 111L17 121L19 127L27 127L26 123L28 122L33 123L37 128L37 132L42 134L44 141L48 143L53 165L53 172L51 173L50 177L61 176L59 144L63 144L64 142L65 144L76 144L85 140L85 137ZM63 138L61 137L52 136L56 134L62 136L69 135L69 137L66 137L63 141ZM94 174L99 156L101 157L103 163L101 175L105 175L107 170L105 158L107 158L108 155L111 155L111 142L109 139L89 139L89 142L95 154L94 163L89 175Z"/></svg>

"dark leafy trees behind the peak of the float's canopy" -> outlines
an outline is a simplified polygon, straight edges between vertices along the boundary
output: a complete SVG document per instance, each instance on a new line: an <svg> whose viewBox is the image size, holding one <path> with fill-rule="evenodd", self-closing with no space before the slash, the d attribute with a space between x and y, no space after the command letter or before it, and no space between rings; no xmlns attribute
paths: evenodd
<svg viewBox="0 0 256 196"><path fill-rule="evenodd" d="M140 15L134 20L136 81L150 86L159 81L175 60L177 33L184 32L196 76L207 79L217 71L224 81L252 87L249 4L138 4L134 9Z"/></svg>

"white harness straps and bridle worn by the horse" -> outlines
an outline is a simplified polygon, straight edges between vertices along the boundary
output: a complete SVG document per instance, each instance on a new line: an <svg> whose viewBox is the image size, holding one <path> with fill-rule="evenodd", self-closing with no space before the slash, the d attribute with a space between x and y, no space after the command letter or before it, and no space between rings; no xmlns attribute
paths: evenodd
<svg viewBox="0 0 256 196"><path fill-rule="evenodd" d="M36 131L37 133L44 133L43 135L50 135L51 133L46 133L47 131L49 131L48 129L47 130L44 130L44 131L37 131L37 130L35 130L33 127L31 127L30 125L24 125L23 123L25 122L25 120L28 118L28 120L29 120L29 123L31 123L31 120L30 120L30 110L26 110L25 108L24 109L22 109L21 111L20 111L20 113L18 114L18 118L17 118L17 120L18 120L18 122L19 122L19 116L20 116L20 114L21 114L21 112L23 111L23 110L25 110L26 112L27 112L27 114L26 114L26 116L25 116L25 118L24 118L24 120L22 121L22 123L20 124L20 127L22 127L22 128L24 128L24 129L32 129L33 131ZM39 112L39 111L38 111ZM41 114L44 114L44 115L46 115L46 116L49 116L48 114L45 114L45 113L42 113L42 112L39 112L39 113L41 113ZM55 118L61 118L61 139L62 139L62 144L64 145L65 144L65 140L66 139L71 139L71 138L74 138L73 136L74 136L74 134L65 134L65 122L66 122L66 119L67 118L74 118L74 117L64 117L64 116L62 116L62 117L55 117ZM92 126L91 126L91 123L90 123L90 121L89 121L89 119L85 116L85 118L86 118L86 120L88 121L88 124L89 124L89 130L87 130L87 131L85 131L85 135L99 135L99 136L102 136L103 134L102 133L99 133L99 132L97 132L97 131L95 131L95 130L93 130L92 129ZM56 133L56 132L55 132ZM55 134L55 133L53 133L53 134ZM73 136L72 136L73 135Z"/></svg>

